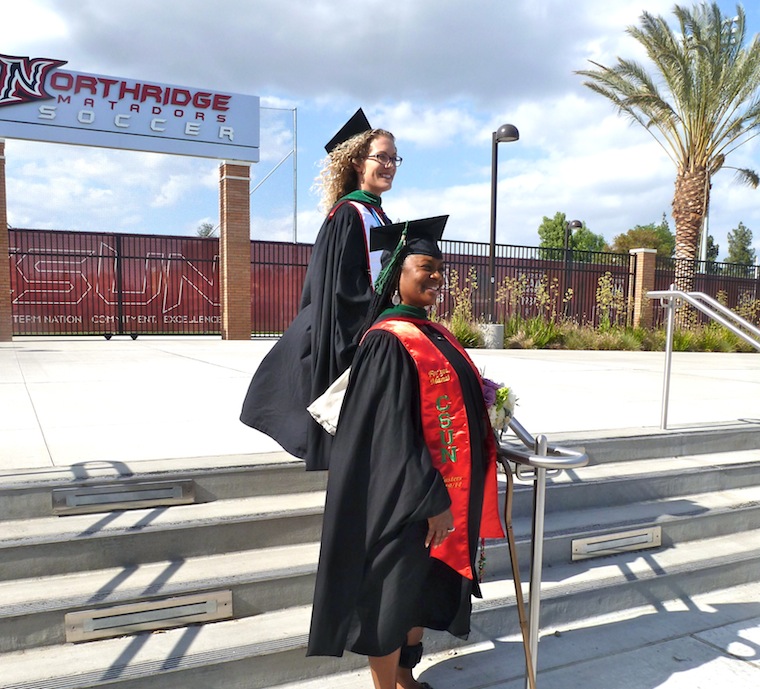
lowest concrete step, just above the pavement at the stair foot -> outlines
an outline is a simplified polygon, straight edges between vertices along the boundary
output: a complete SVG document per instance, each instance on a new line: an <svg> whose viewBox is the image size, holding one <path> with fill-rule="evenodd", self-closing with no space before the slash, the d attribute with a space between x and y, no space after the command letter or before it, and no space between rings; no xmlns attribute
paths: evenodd
<svg viewBox="0 0 760 689"><path fill-rule="evenodd" d="M542 587L542 626L737 586L755 580L759 564L760 531L754 530L656 554L617 555L603 566L566 565ZM517 633L513 593L507 580L484 585L485 597L475 602L468 643ZM3 686L262 689L365 665L364 658L351 654L342 660L305 658L308 623L305 605L159 634L6 653ZM463 645L444 633L426 637L428 652Z"/></svg>

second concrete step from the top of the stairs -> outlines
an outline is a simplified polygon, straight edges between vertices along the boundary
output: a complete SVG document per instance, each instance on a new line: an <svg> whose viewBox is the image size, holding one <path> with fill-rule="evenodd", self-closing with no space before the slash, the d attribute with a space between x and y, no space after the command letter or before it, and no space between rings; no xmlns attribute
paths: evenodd
<svg viewBox="0 0 760 689"><path fill-rule="evenodd" d="M564 529L564 541L569 543L569 535L645 523L646 519L637 516L642 509L649 509L650 521L671 513L692 516L712 509L701 505L700 498L689 498L689 490L729 491L760 485L760 462L751 461L755 453L604 464L552 479L546 500L547 539L554 539L548 543L549 561L568 557L568 548L558 545L563 540L562 524L575 525L574 530ZM503 477L501 480L503 489ZM532 485L517 483L513 516L518 536L527 537L532 499ZM670 502L660 507L657 500ZM690 501L694 506L689 512ZM743 502L751 506L755 501L755 495L748 494ZM323 491L310 491L106 514L11 520L4 523L0 533L0 581L39 572L57 575L313 542L319 538L323 502ZM643 502L649 507L639 507L638 512L629 507ZM581 512L610 505L616 507L609 513L586 516ZM579 514L566 514L573 511ZM717 514L714 509L712 514ZM583 528L583 520L587 528ZM718 533L719 528L714 527L713 533ZM551 555L555 547L564 549L565 554L557 551L556 557Z"/></svg>

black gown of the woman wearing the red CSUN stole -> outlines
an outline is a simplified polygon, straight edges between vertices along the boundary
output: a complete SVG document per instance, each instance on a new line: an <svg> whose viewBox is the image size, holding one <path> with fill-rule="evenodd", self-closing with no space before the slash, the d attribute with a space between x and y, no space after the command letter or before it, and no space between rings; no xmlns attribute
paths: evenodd
<svg viewBox="0 0 760 689"><path fill-rule="evenodd" d="M424 330L424 326L423 326ZM471 429L470 559L475 567L487 452L480 381L429 334L463 385ZM391 333L370 331L357 353L330 459L308 655L344 649L383 656L415 626L466 638L476 581L425 548L427 519L451 504L425 445L418 374Z"/></svg>

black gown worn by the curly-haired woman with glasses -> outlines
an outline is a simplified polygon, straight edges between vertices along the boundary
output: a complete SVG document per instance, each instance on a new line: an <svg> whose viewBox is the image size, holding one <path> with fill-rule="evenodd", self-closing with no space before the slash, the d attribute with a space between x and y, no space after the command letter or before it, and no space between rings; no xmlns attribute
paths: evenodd
<svg viewBox="0 0 760 689"><path fill-rule="evenodd" d="M306 407L351 364L372 295L364 224L339 203L314 243L298 315L259 365L240 415L307 470L327 468L332 436Z"/></svg>

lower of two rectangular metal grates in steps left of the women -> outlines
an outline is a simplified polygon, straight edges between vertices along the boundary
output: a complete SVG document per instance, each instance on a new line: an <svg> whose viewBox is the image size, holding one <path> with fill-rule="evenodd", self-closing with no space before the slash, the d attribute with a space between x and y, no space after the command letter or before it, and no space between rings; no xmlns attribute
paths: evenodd
<svg viewBox="0 0 760 689"><path fill-rule="evenodd" d="M67 613L66 641L93 641L232 617L232 591L212 591L163 600Z"/></svg>

